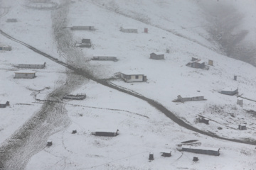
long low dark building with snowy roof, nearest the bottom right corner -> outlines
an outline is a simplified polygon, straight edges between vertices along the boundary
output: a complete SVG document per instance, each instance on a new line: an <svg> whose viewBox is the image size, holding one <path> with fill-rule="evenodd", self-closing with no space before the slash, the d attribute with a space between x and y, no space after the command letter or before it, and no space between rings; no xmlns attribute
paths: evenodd
<svg viewBox="0 0 256 170"><path fill-rule="evenodd" d="M219 156L220 155L220 149L219 148L208 148L208 147L185 147L182 146L181 151L186 151L186 152L193 152L196 154L209 154L209 155L214 155L214 156Z"/></svg>

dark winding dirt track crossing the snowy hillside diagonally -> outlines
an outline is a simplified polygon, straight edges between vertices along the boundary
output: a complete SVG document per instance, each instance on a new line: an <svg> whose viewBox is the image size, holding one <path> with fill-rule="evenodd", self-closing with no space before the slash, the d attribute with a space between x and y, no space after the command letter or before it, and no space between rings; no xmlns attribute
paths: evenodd
<svg viewBox="0 0 256 170"><path fill-rule="evenodd" d="M0 30L0 33L1 33L1 35L4 35L6 38L14 40L14 41L20 43L21 45L24 45L24 46L28 47L29 49L33 50L34 52L37 52L38 54L43 55L44 57L47 57L49 60L53 60L54 62L57 62L58 64L61 64L64 67L67 67L68 69L73 70L76 74L80 74L83 77L86 77L87 79L91 79L92 81L96 81L97 83L102 84L103 86L107 86L107 87L110 87L112 89L116 89L117 91L121 91L125 94L132 95L134 97L142 99L143 101L148 102L151 106L154 106L154 108L156 108L157 110L164 113L168 118L173 120L174 123L177 123L178 125L180 125L183 128L186 128L188 130L192 130L193 132L198 132L202 135L207 135L209 137L214 137L214 138L217 138L217 139L220 139L220 140L227 140L227 141L230 141L230 142L238 142L238 143L247 144L247 145L256 145L255 140L245 141L245 140L238 140L238 139L229 139L229 138L226 138L226 137L220 137L218 135L214 135L213 133L205 132L203 130L199 130L197 128L194 128L192 125L189 125L188 123L185 123L183 120L176 117L176 115L174 115L174 113L171 113L171 111L169 111L167 108L165 108L163 105L161 105L161 103L158 103L157 101L154 101L151 98L146 98L145 96L142 96L141 94L137 94L137 93L134 93L134 92L129 91L127 89L123 89L122 87L115 86L114 84L111 84L108 81L105 81L105 80L102 80L102 79L97 79L92 74L85 71L84 69L77 68L73 65L70 65L70 64L67 64L65 62L59 61L55 57L52 57L52 56L46 54L45 52L42 52L42 51L36 49L36 47L33 47L31 45L26 44L25 42L22 42L21 40L17 40L16 38L11 37L11 35L8 35L3 30Z"/></svg>

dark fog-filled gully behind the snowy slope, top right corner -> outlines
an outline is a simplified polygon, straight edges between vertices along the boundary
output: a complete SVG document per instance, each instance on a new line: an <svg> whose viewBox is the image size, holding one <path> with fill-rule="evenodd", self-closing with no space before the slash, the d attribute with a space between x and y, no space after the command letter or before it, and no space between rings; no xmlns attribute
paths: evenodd
<svg viewBox="0 0 256 170"><path fill-rule="evenodd" d="M224 55L256 66L256 1L200 1L211 39ZM254 8L255 7L255 8Z"/></svg>

